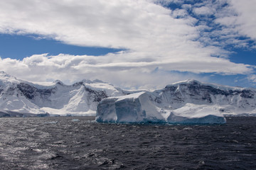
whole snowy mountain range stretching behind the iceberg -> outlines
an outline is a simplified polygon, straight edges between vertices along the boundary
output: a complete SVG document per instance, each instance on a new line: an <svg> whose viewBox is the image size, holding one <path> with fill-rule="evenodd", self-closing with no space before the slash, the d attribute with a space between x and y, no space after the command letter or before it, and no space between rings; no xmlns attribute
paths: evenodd
<svg viewBox="0 0 256 170"><path fill-rule="evenodd" d="M142 91L123 90L100 80L82 80L72 85L59 80L48 85L33 84L0 72L0 117L96 115L102 99L139 92ZM193 110L195 106L213 108L223 115L256 113L256 89L186 80L146 93L154 106L174 113Z"/></svg>

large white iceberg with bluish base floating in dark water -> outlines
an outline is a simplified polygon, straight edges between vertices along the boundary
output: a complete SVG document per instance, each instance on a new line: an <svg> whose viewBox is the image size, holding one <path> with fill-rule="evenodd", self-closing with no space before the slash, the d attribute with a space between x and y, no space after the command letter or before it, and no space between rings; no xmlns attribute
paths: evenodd
<svg viewBox="0 0 256 170"><path fill-rule="evenodd" d="M151 92L105 98L97 106L97 122L223 124L218 106L187 103L172 109L169 103L152 101Z"/></svg>

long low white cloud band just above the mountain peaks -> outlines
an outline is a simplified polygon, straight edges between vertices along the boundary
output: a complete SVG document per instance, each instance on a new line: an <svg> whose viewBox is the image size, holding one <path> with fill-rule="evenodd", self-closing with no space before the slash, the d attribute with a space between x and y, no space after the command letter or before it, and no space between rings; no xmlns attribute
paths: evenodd
<svg viewBox="0 0 256 170"><path fill-rule="evenodd" d="M183 79L201 79L195 74L174 74L179 72L216 72L220 74L250 73L249 65L235 64L222 58L203 57L177 57L166 60L152 60L138 62L130 56L139 56L137 60L145 57L139 53L120 53L104 56L75 56L56 55L48 56L33 55L21 61L0 59L0 67L5 72L28 81L46 81L48 79L60 79L72 83L81 79L102 79L117 86L152 88L163 87L166 84ZM119 60L124 58L125 61ZM111 61L111 62L110 62ZM218 67L216 67L218 66ZM154 72L159 68L157 72ZM170 72L169 72L170 71ZM145 84L147 84L145 86Z"/></svg>

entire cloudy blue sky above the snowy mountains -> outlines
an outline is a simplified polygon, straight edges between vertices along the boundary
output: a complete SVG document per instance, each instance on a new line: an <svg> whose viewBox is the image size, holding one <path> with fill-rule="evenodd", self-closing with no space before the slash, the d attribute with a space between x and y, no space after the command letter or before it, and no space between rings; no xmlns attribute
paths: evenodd
<svg viewBox="0 0 256 170"><path fill-rule="evenodd" d="M256 87L256 0L1 0L0 71L124 89Z"/></svg>

